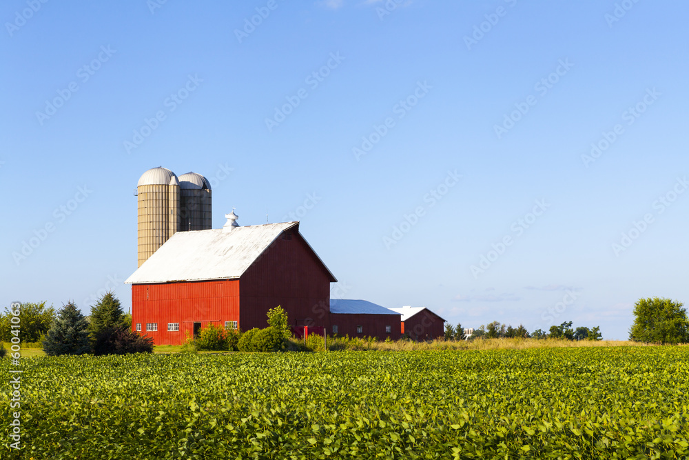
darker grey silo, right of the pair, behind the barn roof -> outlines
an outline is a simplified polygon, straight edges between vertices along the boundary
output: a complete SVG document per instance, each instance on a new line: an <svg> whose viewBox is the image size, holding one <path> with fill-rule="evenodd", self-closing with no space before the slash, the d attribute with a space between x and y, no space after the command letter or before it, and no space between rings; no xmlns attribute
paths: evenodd
<svg viewBox="0 0 689 460"><path fill-rule="evenodd" d="M179 186L179 231L212 228L211 185L208 179L196 172L187 172L179 177Z"/></svg>

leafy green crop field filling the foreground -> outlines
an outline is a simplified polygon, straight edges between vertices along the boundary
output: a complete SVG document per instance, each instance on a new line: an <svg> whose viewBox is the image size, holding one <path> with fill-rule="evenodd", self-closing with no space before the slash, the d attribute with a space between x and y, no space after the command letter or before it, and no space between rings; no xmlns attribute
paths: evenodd
<svg viewBox="0 0 689 460"><path fill-rule="evenodd" d="M22 367L30 450L17 458L689 457L685 347L86 355ZM0 361L1 375L10 368ZM11 411L1 398L0 419Z"/></svg>

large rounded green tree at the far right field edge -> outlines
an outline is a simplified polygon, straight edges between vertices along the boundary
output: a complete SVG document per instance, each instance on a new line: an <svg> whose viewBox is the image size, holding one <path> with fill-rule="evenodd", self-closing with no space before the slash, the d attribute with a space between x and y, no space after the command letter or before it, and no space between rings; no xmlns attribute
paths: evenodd
<svg viewBox="0 0 689 460"><path fill-rule="evenodd" d="M639 299L634 305L629 339L646 343L689 342L689 319L683 303L671 299Z"/></svg>

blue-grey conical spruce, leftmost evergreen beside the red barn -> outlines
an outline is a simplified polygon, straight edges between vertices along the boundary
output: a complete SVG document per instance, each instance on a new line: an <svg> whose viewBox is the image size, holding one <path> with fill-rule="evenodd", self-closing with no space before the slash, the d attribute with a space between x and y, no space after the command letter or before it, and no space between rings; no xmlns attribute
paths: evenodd
<svg viewBox="0 0 689 460"><path fill-rule="evenodd" d="M73 301L63 306L43 340L43 351L48 356L85 354L90 351L88 321Z"/></svg>

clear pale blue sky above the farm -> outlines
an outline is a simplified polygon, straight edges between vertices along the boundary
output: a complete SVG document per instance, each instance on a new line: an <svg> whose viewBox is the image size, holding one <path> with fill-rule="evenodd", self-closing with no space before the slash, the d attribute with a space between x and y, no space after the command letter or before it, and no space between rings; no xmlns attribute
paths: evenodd
<svg viewBox="0 0 689 460"><path fill-rule="evenodd" d="M239 3L3 2L1 305L129 308L161 165L214 228L296 216L335 297L608 339L689 301L687 3Z"/></svg>

